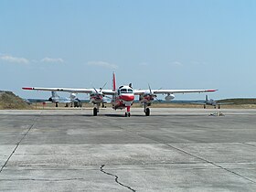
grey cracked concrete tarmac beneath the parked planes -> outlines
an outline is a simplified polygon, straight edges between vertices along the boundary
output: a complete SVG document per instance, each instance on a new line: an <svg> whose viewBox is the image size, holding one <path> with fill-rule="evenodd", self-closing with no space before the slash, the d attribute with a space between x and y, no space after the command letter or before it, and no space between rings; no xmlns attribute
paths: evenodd
<svg viewBox="0 0 256 192"><path fill-rule="evenodd" d="M256 191L256 110L131 112L0 111L0 191Z"/></svg>

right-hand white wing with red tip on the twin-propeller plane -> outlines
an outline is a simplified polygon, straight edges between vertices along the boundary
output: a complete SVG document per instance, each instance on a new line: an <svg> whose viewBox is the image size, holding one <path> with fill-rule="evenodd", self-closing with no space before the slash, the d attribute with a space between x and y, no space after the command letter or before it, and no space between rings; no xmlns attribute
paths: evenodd
<svg viewBox="0 0 256 192"><path fill-rule="evenodd" d="M214 92L217 90L152 90L154 94L174 94L174 93L189 93L189 92ZM148 90L134 90L135 95L144 94Z"/></svg>

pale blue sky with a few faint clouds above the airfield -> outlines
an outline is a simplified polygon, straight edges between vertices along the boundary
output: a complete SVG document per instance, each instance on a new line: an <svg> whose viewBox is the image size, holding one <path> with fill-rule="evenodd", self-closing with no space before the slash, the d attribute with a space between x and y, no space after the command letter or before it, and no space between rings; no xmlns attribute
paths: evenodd
<svg viewBox="0 0 256 192"><path fill-rule="evenodd" d="M112 71L133 88L256 97L254 0L1 0L0 26L0 90L24 98L50 95L29 86L111 89Z"/></svg>

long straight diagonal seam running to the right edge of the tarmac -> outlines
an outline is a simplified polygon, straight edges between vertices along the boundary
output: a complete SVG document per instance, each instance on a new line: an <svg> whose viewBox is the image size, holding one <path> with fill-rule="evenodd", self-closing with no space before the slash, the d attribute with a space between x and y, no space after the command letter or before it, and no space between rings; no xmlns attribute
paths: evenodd
<svg viewBox="0 0 256 192"><path fill-rule="evenodd" d="M136 133L136 132L133 132L133 131L127 131L127 130L125 130L122 126L118 126L118 128L120 128L120 129L122 129L122 130L124 130L124 131L126 131L126 132L129 132L129 133ZM205 158L203 158L203 157L200 157L200 156L197 156L197 155L192 155L192 154L188 153L188 152L185 151L185 150L182 150L182 149L179 149L179 148L177 148L177 147L175 147L175 146L172 146L171 144L166 144L165 142L161 142L161 141L158 141L158 140L153 139L153 138L151 138L151 137L141 135L140 133L136 133L136 134L139 135L139 136L141 136L141 137L144 137L144 138L146 138L146 139L150 139L150 140L152 140L152 141L155 141L155 142L157 142L158 144L165 144L165 145L167 145L167 146L169 146L169 147L171 147L171 148L173 148L173 149L176 149L177 151L180 151L180 152L182 152L182 153L184 153L184 154L194 156L194 157L196 157L197 159L200 159L200 160L202 160L202 161L207 162L208 164L215 165L215 166L217 166L217 167L219 167L219 168L221 168L221 169L223 169L223 170L225 170L225 171L227 171L227 172L229 172L229 173L231 173L231 174L234 174L234 175L236 175L236 176L240 176L240 177L242 177L242 178L244 178L244 179L250 181L251 183L254 183L254 184L256 183L256 181L253 181L253 180L251 180L250 178L248 178L248 177L246 177L246 176L241 176L240 174L238 174L238 173L236 173L236 172L234 172L234 171L231 171L231 170L229 170L228 168L225 168L225 167L223 167L223 166L221 166L221 165L218 165L218 164L216 164L216 163L214 163L214 162L208 161L207 159L205 159Z"/></svg>

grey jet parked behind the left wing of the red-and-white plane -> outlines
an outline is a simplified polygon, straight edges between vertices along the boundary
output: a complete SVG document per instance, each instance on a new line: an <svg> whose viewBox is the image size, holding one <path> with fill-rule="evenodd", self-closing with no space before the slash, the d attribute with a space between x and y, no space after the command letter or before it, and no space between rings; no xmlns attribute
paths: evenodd
<svg viewBox="0 0 256 192"><path fill-rule="evenodd" d="M71 103L71 107L73 103L74 107L81 107L81 101L74 92L71 92L69 97L60 97L56 91L51 91L51 97L48 101L55 102L56 107L58 107L60 102L66 103L66 107L68 107L69 103Z"/></svg>

